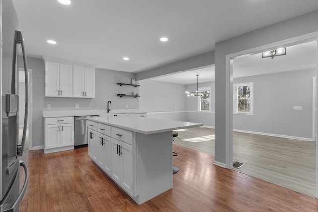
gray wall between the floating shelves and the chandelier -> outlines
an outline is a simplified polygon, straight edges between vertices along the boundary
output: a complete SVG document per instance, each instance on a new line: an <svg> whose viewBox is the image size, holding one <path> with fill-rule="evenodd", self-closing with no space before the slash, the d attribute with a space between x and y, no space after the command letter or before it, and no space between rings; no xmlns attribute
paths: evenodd
<svg viewBox="0 0 318 212"><path fill-rule="evenodd" d="M146 112L184 111L185 85L155 80L140 81L139 110Z"/></svg>

